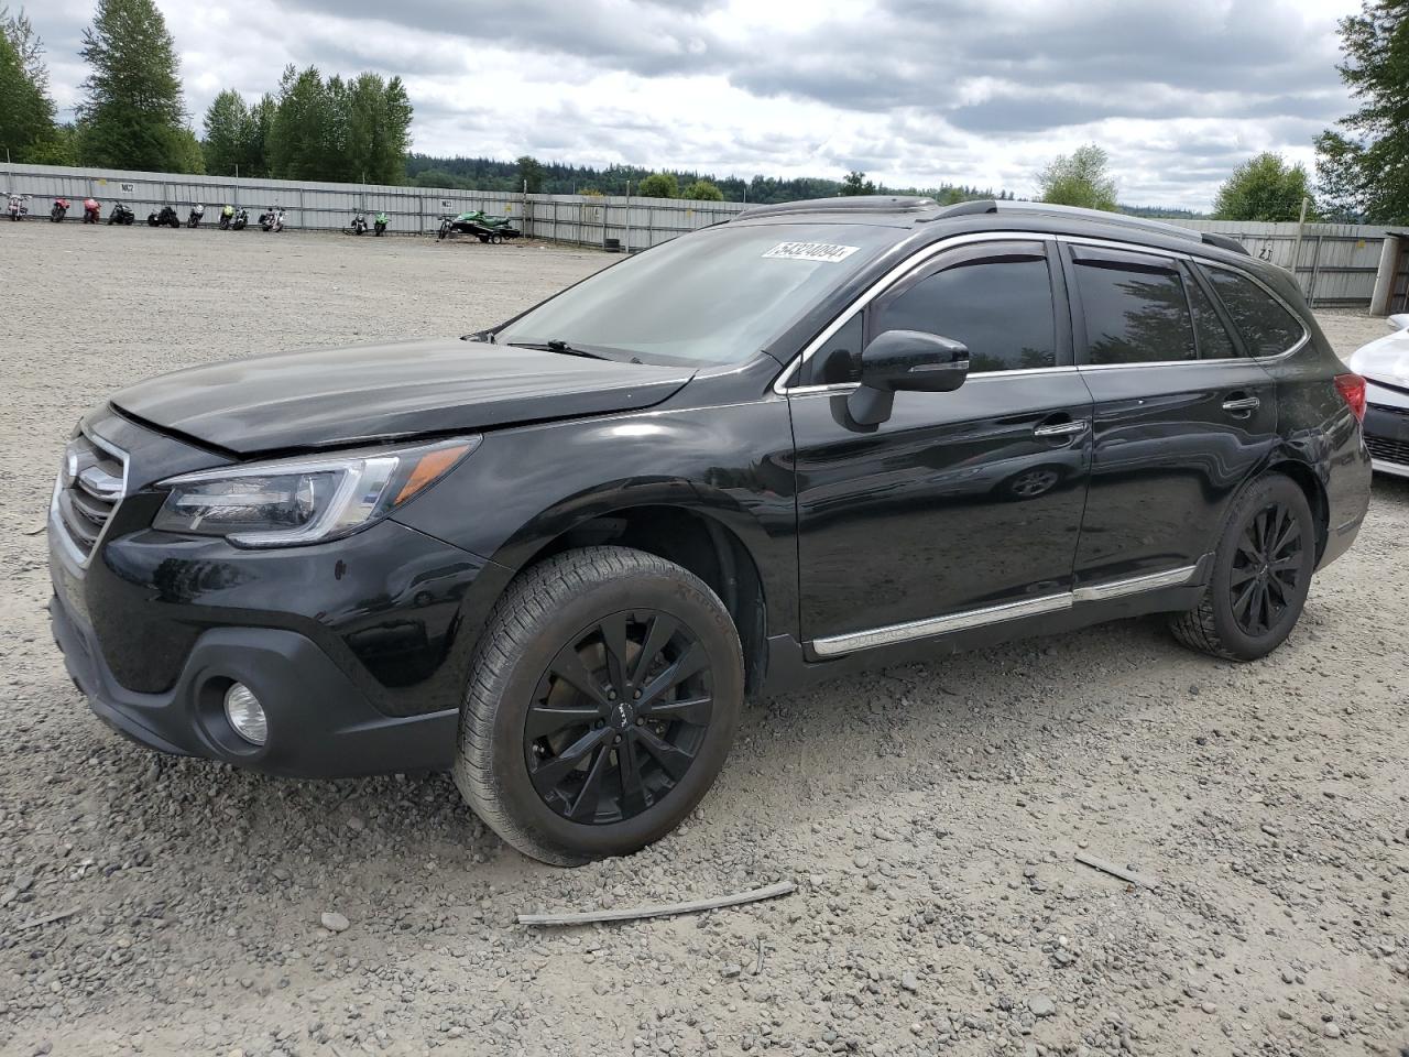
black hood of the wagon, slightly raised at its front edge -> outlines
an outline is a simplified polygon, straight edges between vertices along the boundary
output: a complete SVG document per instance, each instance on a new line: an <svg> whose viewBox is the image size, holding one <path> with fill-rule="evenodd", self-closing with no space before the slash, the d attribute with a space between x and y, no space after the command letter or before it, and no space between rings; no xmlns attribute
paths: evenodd
<svg viewBox="0 0 1409 1057"><path fill-rule="evenodd" d="M348 447L650 407L693 371L458 338L197 366L113 397L132 417L227 451Z"/></svg>

